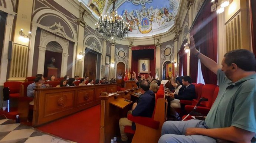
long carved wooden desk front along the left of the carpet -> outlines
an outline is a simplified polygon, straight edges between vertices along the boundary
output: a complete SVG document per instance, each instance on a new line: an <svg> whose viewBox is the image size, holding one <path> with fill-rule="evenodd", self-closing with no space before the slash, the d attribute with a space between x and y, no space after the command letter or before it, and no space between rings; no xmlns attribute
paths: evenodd
<svg viewBox="0 0 256 143"><path fill-rule="evenodd" d="M36 88L32 125L39 126L95 106L104 92L116 92L116 84Z"/></svg>

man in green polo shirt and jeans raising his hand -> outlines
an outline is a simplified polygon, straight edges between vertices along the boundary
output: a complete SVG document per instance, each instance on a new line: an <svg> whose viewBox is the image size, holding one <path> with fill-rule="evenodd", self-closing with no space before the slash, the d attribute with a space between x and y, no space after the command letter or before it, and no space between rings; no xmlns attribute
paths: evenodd
<svg viewBox="0 0 256 143"><path fill-rule="evenodd" d="M204 56L190 36L190 52L215 74L219 94L205 121L167 121L158 143L207 142L216 139L240 143L256 142L256 60L249 50L227 52L220 67Z"/></svg>

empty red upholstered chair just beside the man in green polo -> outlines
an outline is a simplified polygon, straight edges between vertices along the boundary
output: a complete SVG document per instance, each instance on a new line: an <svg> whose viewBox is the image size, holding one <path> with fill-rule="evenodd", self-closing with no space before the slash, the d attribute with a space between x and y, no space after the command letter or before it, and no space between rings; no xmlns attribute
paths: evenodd
<svg viewBox="0 0 256 143"><path fill-rule="evenodd" d="M197 107L196 111L202 115L207 115L213 105L217 95L219 93L219 87L214 84L206 84L202 88L201 97L207 98L208 101L202 101L200 106ZM192 111L194 105L186 105L185 110L187 112Z"/></svg>

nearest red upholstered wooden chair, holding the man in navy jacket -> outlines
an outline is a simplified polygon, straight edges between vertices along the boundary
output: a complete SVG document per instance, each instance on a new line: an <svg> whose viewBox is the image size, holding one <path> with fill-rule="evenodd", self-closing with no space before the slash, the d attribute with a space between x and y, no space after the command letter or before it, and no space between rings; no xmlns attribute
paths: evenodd
<svg viewBox="0 0 256 143"><path fill-rule="evenodd" d="M161 129L165 121L165 99L163 84L155 95L155 109L152 118L132 116L127 118L135 122L136 130L131 129L131 126L125 126L126 133L134 133L132 143L157 143L161 136Z"/></svg>

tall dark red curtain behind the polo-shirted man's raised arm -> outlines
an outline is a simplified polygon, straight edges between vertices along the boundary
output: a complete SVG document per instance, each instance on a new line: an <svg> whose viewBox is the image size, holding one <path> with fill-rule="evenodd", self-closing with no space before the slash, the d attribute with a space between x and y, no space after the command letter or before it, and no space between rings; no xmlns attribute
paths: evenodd
<svg viewBox="0 0 256 143"><path fill-rule="evenodd" d="M210 2L205 4L202 11L204 12L197 18L198 22L195 23L191 35L195 33L195 44L197 48L200 48L200 52L217 62L217 15L216 12L211 12ZM196 64L195 59L192 56L190 58ZM201 69L206 84L217 84L216 74L203 63L201 63ZM195 71L193 72L194 76Z"/></svg>

